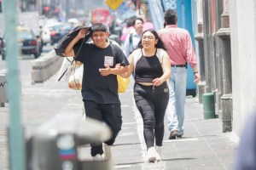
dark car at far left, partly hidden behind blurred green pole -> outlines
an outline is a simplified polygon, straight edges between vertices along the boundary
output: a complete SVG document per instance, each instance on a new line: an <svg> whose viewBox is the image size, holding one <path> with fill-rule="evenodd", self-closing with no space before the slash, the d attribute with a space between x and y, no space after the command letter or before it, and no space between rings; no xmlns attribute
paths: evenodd
<svg viewBox="0 0 256 170"><path fill-rule="evenodd" d="M20 47L21 54L33 54L35 59L40 55L40 37L35 36L33 31L30 28L23 28L21 26L16 27L17 37L18 37L18 46ZM6 59L5 53L5 34L1 38L1 51L2 59Z"/></svg>

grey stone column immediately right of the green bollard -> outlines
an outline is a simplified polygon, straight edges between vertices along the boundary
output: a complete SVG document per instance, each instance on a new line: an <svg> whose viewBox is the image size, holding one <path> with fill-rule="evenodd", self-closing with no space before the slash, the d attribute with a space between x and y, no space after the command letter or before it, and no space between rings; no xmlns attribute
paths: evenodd
<svg viewBox="0 0 256 170"><path fill-rule="evenodd" d="M228 0L224 0L224 13L221 17L222 28L218 30L217 35L221 38L223 45L224 94L221 97L222 112L219 113L219 117L222 121L223 132L225 133L232 131L233 119L230 14Z"/></svg>

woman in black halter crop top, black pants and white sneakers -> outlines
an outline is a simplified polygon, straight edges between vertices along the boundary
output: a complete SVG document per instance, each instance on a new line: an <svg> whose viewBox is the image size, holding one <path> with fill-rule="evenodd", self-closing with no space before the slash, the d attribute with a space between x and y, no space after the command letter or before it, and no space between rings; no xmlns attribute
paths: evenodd
<svg viewBox="0 0 256 170"><path fill-rule="evenodd" d="M135 72L134 99L143 117L147 159L149 162L159 161L165 131L164 117L169 99L166 81L172 73L171 61L164 43L154 30L143 33L142 40L128 60L128 71L120 76L127 78Z"/></svg>

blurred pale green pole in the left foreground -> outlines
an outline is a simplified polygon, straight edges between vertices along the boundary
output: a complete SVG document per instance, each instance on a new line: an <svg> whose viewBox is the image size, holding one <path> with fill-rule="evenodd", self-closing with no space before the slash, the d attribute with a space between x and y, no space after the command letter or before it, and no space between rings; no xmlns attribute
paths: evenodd
<svg viewBox="0 0 256 170"><path fill-rule="evenodd" d="M20 77L16 34L16 0L3 1L5 15L6 57L8 64L9 98L9 167L10 170L26 169L25 142L20 121Z"/></svg>

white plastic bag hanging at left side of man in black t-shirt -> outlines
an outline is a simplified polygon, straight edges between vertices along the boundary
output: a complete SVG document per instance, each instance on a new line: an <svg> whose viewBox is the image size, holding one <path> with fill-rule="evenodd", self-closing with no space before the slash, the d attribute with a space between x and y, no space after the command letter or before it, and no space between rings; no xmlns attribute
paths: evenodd
<svg viewBox="0 0 256 170"><path fill-rule="evenodd" d="M73 65L73 70L68 78L68 88L81 90L83 82L84 65Z"/></svg>

